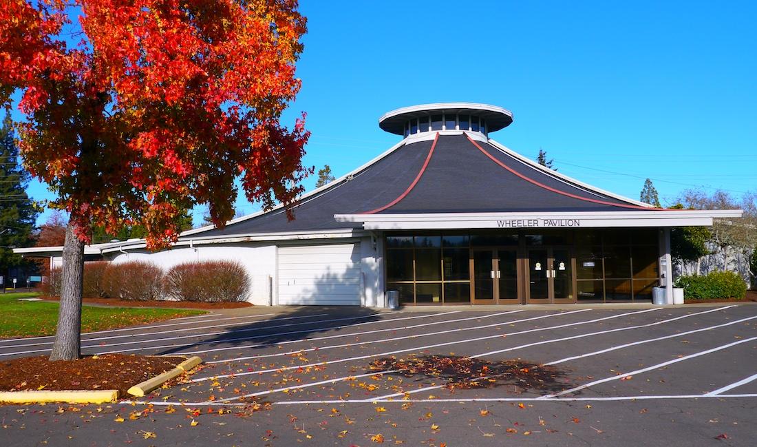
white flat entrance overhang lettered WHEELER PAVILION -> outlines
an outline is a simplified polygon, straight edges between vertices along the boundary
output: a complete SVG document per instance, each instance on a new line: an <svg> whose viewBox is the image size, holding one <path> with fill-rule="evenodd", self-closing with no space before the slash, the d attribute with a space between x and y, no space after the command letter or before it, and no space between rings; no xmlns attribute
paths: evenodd
<svg viewBox="0 0 757 447"><path fill-rule="evenodd" d="M517 213L335 214L366 230L471 228L710 227L713 218L737 218L742 210L578 211Z"/></svg>

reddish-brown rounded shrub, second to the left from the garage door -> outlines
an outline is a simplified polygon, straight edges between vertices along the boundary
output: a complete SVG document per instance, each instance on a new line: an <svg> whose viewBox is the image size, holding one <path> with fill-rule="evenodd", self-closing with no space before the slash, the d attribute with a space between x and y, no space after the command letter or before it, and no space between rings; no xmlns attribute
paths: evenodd
<svg viewBox="0 0 757 447"><path fill-rule="evenodd" d="M164 274L145 261L111 263L104 271L102 289L111 298L149 301L160 298Z"/></svg>

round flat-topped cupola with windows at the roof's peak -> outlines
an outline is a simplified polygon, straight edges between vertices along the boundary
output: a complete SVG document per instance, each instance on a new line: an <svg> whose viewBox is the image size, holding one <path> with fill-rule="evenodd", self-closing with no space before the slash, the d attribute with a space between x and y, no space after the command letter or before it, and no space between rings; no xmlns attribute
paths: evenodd
<svg viewBox="0 0 757 447"><path fill-rule="evenodd" d="M496 105L473 102L438 102L413 105L387 112L378 127L390 133L408 134L438 130L489 133L512 123L512 112Z"/></svg>

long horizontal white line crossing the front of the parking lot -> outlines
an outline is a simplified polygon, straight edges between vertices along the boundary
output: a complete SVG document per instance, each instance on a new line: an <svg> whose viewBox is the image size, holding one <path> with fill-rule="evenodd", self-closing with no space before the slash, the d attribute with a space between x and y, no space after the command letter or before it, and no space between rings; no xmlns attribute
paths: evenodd
<svg viewBox="0 0 757 447"><path fill-rule="evenodd" d="M618 401L645 401L645 400L672 400L672 399L749 399L757 398L757 394L684 394L684 395L618 395L612 397L564 397L560 399L541 399L538 397L490 397L490 398L467 398L467 399L322 399L312 401L279 401L271 402L272 405L333 405L333 404L407 404L407 403L459 403L468 402L537 402L539 404L570 404L571 402L618 402ZM123 405L153 405L156 407L187 406L187 407L245 407L250 402L184 402L184 401L120 401Z"/></svg>

